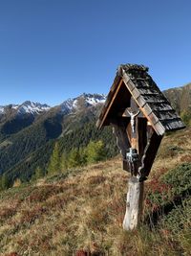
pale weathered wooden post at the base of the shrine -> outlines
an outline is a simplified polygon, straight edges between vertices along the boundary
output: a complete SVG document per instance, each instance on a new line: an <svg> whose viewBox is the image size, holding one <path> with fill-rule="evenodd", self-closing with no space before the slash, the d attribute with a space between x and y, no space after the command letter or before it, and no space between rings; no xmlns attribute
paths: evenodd
<svg viewBox="0 0 191 256"><path fill-rule="evenodd" d="M144 182L139 182L138 177L132 176L128 182L126 213L123 229L132 230L138 227L143 208Z"/></svg>

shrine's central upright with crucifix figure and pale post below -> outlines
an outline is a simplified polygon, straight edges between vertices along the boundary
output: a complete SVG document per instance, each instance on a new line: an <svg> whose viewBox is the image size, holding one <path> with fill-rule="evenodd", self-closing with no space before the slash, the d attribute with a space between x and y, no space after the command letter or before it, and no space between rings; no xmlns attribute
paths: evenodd
<svg viewBox="0 0 191 256"><path fill-rule="evenodd" d="M142 203L144 183L143 181L139 181L140 174L138 173L138 164L140 162L140 155L138 155L140 148L138 147L138 125L140 124L139 118L143 118L143 115L138 109L138 105L132 98L131 110L127 108L123 115L130 118L127 131L130 141L130 148L126 152L126 159L124 160L127 161L128 168L131 173L131 177L128 181L126 212L123 221L123 228L125 230L130 230L138 226L143 209Z"/></svg>

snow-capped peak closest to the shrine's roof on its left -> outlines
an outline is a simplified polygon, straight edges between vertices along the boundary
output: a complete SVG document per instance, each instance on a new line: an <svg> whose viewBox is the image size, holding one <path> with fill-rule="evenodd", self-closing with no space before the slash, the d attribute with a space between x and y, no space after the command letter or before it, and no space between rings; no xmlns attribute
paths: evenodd
<svg viewBox="0 0 191 256"><path fill-rule="evenodd" d="M60 106L61 106L62 112L69 113L81 107L88 107L88 106L104 103L105 100L106 100L106 96L104 94L83 93L82 95L74 99L69 99L65 101Z"/></svg>

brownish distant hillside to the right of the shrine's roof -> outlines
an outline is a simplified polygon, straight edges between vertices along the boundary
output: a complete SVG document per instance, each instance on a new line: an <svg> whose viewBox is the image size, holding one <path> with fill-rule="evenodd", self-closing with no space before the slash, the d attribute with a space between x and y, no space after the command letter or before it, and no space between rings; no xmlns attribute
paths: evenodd
<svg viewBox="0 0 191 256"><path fill-rule="evenodd" d="M179 114L183 111L191 111L191 83L165 90L163 94Z"/></svg>

